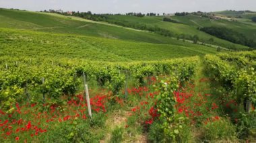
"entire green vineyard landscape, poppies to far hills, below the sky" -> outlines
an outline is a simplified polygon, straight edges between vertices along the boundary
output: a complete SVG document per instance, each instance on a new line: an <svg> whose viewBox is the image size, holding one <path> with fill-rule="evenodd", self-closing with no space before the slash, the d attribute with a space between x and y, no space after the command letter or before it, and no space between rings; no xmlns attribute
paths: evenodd
<svg viewBox="0 0 256 143"><path fill-rule="evenodd" d="M251 20L72 13L0 8L0 142L256 142Z"/></svg>

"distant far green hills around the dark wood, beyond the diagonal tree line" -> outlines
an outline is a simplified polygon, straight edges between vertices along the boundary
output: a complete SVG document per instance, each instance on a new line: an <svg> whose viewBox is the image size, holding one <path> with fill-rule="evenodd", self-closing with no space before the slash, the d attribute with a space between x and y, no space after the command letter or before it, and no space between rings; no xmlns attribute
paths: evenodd
<svg viewBox="0 0 256 143"><path fill-rule="evenodd" d="M168 22L163 21L164 16L146 16L146 17L136 17L132 15L105 15L108 21L112 21L113 23L130 23L134 24L144 24L146 26L158 28L163 28L165 30L169 30L172 32L174 36L185 35L185 37L190 38L194 35L199 36L199 41L215 44L218 46L223 46L226 48L238 48L243 49L247 48L246 46L241 46L239 44L234 44L232 42L228 42L226 40L222 40L220 38L216 38L211 36L210 34L206 34L205 32L201 32L197 30L197 28L202 28L204 26L228 26L228 28L236 28L238 32L242 32L247 37L254 36L255 34L255 26L254 23L243 23L239 21L228 21L226 19L217 19L212 20L207 17L199 17L197 15L186 15L186 16L166 16L171 17L175 21ZM210 39L214 39L213 42L210 42Z"/></svg>

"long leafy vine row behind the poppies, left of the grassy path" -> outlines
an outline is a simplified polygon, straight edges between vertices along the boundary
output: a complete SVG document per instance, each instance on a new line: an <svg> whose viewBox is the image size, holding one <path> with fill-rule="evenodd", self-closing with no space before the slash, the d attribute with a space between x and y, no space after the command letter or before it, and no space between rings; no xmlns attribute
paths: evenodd
<svg viewBox="0 0 256 143"><path fill-rule="evenodd" d="M38 58L0 59L1 108L11 112L17 101L61 104L62 95L77 93L82 79L84 84L96 81L113 95L127 84L127 76L134 85L146 84L147 77L175 75L183 83L195 72L199 58L180 58L152 62L90 62L83 60L47 60ZM189 62L188 62L189 61Z"/></svg>

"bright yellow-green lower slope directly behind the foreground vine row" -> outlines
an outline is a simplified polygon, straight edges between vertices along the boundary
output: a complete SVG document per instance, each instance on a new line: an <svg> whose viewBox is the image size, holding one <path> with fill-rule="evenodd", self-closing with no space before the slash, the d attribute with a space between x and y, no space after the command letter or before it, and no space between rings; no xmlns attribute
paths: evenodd
<svg viewBox="0 0 256 143"><path fill-rule="evenodd" d="M216 48L129 42L90 36L0 29L0 55L87 60L163 60L216 53Z"/></svg>

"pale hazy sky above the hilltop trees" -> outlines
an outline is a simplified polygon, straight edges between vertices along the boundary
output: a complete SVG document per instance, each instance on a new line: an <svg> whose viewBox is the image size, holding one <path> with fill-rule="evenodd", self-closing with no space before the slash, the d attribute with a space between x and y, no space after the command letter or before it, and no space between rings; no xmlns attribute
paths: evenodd
<svg viewBox="0 0 256 143"><path fill-rule="evenodd" d="M226 9L256 11L256 0L0 0L0 7L31 11L63 9L92 13L174 13Z"/></svg>

